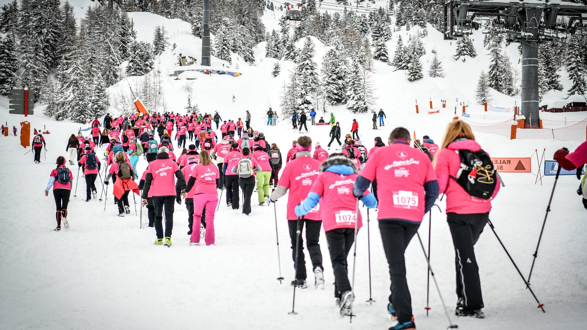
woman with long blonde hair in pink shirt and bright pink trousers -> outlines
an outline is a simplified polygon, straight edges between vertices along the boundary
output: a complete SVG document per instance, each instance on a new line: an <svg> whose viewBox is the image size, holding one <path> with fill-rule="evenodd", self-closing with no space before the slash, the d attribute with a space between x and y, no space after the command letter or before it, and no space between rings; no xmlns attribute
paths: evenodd
<svg viewBox="0 0 587 330"><path fill-rule="evenodd" d="M218 191L216 190L216 180L220 178L218 167L212 161L212 157L206 150L200 153L198 164L191 171L190 179L185 191L191 191L194 188L194 223L192 228L201 227L202 213L205 208L206 213L206 232L204 242L206 245L213 245L214 239L214 213L218 204ZM238 193L237 193L238 194ZM200 244L200 233L197 230L191 232L190 245Z"/></svg>

